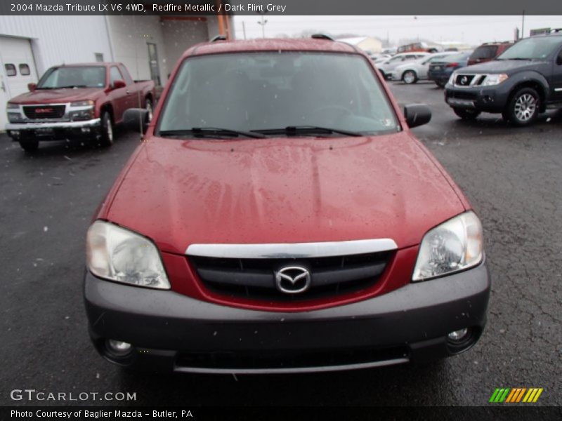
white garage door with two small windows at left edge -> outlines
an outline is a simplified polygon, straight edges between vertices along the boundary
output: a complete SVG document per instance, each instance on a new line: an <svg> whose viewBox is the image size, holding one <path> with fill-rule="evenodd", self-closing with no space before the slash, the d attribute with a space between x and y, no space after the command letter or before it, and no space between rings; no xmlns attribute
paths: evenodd
<svg viewBox="0 0 562 421"><path fill-rule="evenodd" d="M4 130L6 102L27 92L27 83L37 82L30 40L0 36L0 67L0 130Z"/></svg>

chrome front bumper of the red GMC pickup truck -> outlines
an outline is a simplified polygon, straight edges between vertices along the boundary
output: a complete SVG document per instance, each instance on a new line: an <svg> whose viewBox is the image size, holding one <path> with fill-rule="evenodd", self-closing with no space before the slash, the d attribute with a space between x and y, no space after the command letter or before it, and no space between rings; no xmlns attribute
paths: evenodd
<svg viewBox="0 0 562 421"><path fill-rule="evenodd" d="M70 137L91 137L93 135L98 135L100 129L101 119L6 124L6 132L13 140L25 140L30 138L37 140L58 140Z"/></svg>

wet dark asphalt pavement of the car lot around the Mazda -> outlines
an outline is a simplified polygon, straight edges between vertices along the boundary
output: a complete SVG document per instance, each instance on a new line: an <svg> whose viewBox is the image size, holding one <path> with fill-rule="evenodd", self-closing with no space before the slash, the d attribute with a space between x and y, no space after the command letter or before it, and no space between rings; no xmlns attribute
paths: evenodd
<svg viewBox="0 0 562 421"><path fill-rule="evenodd" d="M136 392L136 405L487 405L496 387L543 387L562 404L562 116L513 128L488 114L466 123L431 83L392 83L398 102L426 102L414 129L481 216L492 276L488 326L469 352L431 366L308 375L126 373L94 351L82 303L84 235L138 145L41 144L29 156L0 135L0 405L13 389Z"/></svg>

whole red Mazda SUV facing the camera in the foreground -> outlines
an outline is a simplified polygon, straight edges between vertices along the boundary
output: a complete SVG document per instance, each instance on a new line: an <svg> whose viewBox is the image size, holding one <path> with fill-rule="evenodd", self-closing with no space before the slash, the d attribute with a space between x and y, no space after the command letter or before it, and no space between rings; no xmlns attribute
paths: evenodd
<svg viewBox="0 0 562 421"><path fill-rule="evenodd" d="M400 112L365 53L327 37L201 44L147 114L126 112L145 138L87 234L105 359L287 373L478 340L481 223L410 131L429 109Z"/></svg>

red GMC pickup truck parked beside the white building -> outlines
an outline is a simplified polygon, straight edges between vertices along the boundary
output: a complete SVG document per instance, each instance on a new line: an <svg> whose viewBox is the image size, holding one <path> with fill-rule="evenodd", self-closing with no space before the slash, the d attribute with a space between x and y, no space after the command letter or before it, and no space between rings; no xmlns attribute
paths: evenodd
<svg viewBox="0 0 562 421"><path fill-rule="evenodd" d="M126 109L143 107L152 117L153 81L133 81L122 63L51 67L30 92L8 101L8 135L26 152L42 140L86 137L113 143L113 127Z"/></svg>

